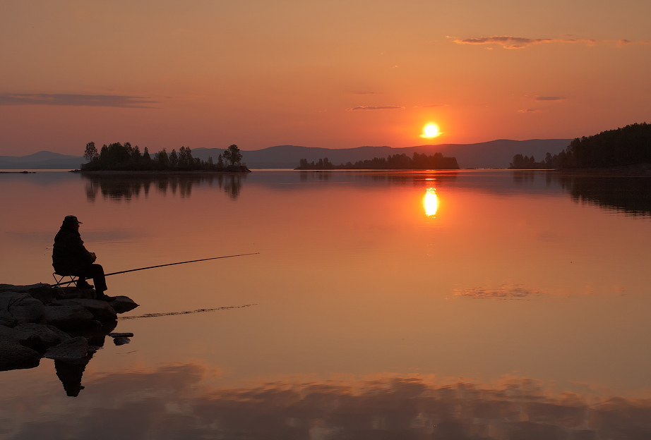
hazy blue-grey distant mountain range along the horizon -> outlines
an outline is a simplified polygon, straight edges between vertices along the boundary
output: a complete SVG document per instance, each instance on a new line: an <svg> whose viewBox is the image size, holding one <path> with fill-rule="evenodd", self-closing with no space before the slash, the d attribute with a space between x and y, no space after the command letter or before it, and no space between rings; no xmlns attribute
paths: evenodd
<svg viewBox="0 0 651 440"><path fill-rule="evenodd" d="M419 145L418 147L357 147L357 148L316 148L297 145L277 145L254 151L242 150L243 161L249 168L296 168L300 159L318 161L327 157L333 164L345 164L374 157L387 157L390 154L414 152L432 155L441 152L446 157L456 157L461 168L507 168L515 154L534 156L537 161L544 159L547 152L558 154L565 149L571 139L531 139L531 140L491 140L477 144ZM152 149L152 152L154 149ZM192 156L203 160L222 154L221 148L192 149ZM0 156L0 169L76 169L83 164L83 157L47 151L28 156Z"/></svg>

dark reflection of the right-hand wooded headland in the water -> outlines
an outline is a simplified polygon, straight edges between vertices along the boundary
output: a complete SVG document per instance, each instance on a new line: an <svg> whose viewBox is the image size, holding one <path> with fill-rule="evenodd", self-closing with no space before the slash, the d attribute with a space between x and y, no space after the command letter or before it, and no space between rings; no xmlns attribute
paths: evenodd
<svg viewBox="0 0 651 440"><path fill-rule="evenodd" d="M576 202L651 215L651 178L615 176L555 176Z"/></svg>

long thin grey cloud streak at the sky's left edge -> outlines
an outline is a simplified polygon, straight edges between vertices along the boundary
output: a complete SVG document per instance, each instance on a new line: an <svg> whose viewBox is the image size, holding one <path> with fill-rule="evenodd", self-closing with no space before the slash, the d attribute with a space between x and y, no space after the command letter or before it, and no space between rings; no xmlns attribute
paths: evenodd
<svg viewBox="0 0 651 440"><path fill-rule="evenodd" d="M56 105L151 109L158 101L118 94L2 93L0 105Z"/></svg>

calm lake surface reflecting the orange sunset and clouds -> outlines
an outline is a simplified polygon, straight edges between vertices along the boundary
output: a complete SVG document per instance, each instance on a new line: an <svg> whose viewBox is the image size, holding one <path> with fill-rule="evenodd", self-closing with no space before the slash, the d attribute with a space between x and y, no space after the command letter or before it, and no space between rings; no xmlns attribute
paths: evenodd
<svg viewBox="0 0 651 440"><path fill-rule="evenodd" d="M259 252L109 276L131 342L76 397L0 372L1 439L651 438L650 178L2 173L0 207L0 283L52 283L68 214L107 272Z"/></svg>

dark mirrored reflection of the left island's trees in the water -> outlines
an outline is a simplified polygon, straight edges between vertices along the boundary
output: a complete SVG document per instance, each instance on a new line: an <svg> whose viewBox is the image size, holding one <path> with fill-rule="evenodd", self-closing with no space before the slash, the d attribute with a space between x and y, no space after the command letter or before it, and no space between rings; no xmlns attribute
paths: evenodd
<svg viewBox="0 0 651 440"><path fill-rule="evenodd" d="M207 184L213 187L215 183L233 200L237 199L242 187L244 174L236 173L166 173L166 174L84 174L88 179L86 183L86 197L90 202L95 201L98 194L104 199L131 200L138 198L141 192L148 197L150 188L156 188L158 193L167 194L169 189L172 195L177 191L182 198L190 197L192 189Z"/></svg>

